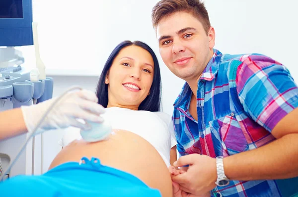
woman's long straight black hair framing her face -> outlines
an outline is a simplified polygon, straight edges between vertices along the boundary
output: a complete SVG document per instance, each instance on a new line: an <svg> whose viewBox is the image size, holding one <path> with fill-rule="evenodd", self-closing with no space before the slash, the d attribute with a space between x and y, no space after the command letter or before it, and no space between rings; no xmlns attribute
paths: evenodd
<svg viewBox="0 0 298 197"><path fill-rule="evenodd" d="M153 82L149 91L149 95L146 97L146 99L140 104L139 110L146 110L150 112L157 112L160 110L160 102L161 102L161 78L160 78L160 70L159 70L159 64L158 60L155 56L155 53L153 50L145 43L141 41L124 41L120 43L111 53L109 56L107 62L105 63L103 70L99 76L98 84L96 88L96 96L98 98L98 103L102 105L103 107L107 107L108 105L108 85L105 84L105 77L110 69L110 67L113 64L114 59L119 54L119 52L128 46L139 46L145 49L150 53L153 59L154 63L154 76L153 76Z"/></svg>

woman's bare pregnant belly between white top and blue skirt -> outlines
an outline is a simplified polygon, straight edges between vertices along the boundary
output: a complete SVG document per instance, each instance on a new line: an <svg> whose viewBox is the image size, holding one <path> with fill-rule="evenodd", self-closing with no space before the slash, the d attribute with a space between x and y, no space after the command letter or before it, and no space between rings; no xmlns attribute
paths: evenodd
<svg viewBox="0 0 298 197"><path fill-rule="evenodd" d="M128 172L151 188L159 189L162 196L172 196L169 171L157 150L144 138L130 131L114 130L107 140L89 143L74 140L54 158L50 168L76 161L82 157L96 157L101 164Z"/></svg>

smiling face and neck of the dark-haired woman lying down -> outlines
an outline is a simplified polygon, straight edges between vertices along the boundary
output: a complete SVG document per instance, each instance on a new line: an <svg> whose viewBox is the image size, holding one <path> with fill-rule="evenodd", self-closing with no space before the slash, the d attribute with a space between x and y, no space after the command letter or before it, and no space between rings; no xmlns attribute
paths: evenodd
<svg viewBox="0 0 298 197"><path fill-rule="evenodd" d="M153 58L148 51L134 45L123 48L105 78L109 98L107 107L138 110L149 95L153 73Z"/></svg>

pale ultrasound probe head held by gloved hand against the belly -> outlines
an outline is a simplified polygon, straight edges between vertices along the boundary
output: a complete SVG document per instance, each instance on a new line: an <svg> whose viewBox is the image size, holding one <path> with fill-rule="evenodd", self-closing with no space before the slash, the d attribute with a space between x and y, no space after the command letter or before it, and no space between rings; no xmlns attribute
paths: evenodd
<svg viewBox="0 0 298 197"><path fill-rule="evenodd" d="M112 133L112 127L108 121L104 120L102 123L95 123L87 121L91 126L91 130L80 130L80 134L85 141L96 142L107 139Z"/></svg>

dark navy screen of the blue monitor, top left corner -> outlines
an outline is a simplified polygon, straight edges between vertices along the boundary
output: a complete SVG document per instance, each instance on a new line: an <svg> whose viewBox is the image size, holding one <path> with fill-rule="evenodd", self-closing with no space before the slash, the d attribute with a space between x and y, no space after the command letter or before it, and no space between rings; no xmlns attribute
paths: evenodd
<svg viewBox="0 0 298 197"><path fill-rule="evenodd" d="M23 0L0 0L0 18L23 18Z"/></svg>

